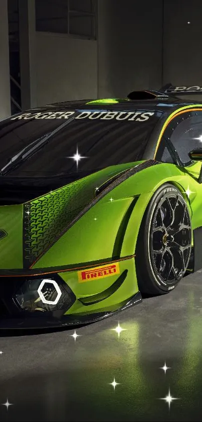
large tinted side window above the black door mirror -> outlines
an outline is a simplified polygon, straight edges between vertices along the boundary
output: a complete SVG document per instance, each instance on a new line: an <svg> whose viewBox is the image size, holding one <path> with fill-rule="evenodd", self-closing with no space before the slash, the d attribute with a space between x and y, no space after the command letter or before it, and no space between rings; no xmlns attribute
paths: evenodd
<svg viewBox="0 0 202 422"><path fill-rule="evenodd" d="M182 163L188 164L188 152L193 148L202 147L202 113L181 114L179 120L173 119L169 126L169 130L172 130L170 141Z"/></svg>

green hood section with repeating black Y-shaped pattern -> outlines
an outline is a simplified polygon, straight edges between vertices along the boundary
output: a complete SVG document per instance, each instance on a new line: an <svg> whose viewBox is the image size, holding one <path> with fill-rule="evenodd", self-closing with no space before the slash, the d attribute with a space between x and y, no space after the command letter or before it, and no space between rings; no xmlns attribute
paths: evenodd
<svg viewBox="0 0 202 422"><path fill-rule="evenodd" d="M88 180L87 180L88 179ZM24 204L24 268L29 268L95 197L90 177Z"/></svg>

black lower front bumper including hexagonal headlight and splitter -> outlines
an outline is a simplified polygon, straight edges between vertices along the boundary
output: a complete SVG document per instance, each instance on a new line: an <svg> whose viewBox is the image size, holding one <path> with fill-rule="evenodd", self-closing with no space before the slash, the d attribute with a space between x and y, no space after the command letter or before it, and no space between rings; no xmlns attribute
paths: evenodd
<svg viewBox="0 0 202 422"><path fill-rule="evenodd" d="M0 278L0 329L54 328L88 324L142 300L141 294L137 292L127 300L98 312L89 312L84 306L83 312L66 315L76 302L76 296L58 274L54 274L54 277L47 275L43 279L35 276L30 284L29 282L25 277ZM50 293L50 286L52 290L55 287L57 290ZM63 294L60 294L60 291Z"/></svg>

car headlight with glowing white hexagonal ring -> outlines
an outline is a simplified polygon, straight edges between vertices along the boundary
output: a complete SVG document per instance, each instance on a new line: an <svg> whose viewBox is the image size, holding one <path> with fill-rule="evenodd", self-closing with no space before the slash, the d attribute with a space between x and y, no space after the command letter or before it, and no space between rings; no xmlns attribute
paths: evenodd
<svg viewBox="0 0 202 422"><path fill-rule="evenodd" d="M65 311L75 301L75 296L67 284L60 279L27 279L18 289L14 300L27 311Z"/></svg>

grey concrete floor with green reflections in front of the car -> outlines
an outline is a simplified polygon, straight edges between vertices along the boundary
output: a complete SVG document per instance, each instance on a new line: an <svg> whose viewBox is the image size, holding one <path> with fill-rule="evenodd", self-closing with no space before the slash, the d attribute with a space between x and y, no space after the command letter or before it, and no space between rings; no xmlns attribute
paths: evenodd
<svg viewBox="0 0 202 422"><path fill-rule="evenodd" d="M202 272L76 332L1 334L0 420L201 420Z"/></svg>

